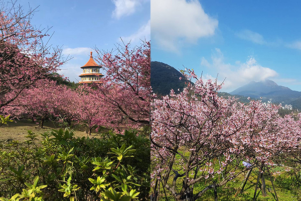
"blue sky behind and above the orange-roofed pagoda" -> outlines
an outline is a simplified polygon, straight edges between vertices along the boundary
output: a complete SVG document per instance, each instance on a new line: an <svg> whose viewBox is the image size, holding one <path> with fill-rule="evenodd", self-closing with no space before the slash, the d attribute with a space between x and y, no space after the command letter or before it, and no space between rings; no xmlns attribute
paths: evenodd
<svg viewBox="0 0 301 201"><path fill-rule="evenodd" d="M95 46L111 50L121 43L120 37L125 42L131 40L132 45L140 44L139 39L150 40L150 0L19 0L17 4L25 11L29 4L32 8L40 6L32 24L52 27L50 44L62 47L65 56L74 57L59 71L71 81L79 80L80 67Z"/></svg>

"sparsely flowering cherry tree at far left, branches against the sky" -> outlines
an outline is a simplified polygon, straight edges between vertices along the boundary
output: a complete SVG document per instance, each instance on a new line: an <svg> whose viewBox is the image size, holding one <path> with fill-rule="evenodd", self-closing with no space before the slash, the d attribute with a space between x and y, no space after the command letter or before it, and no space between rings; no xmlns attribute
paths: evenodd
<svg viewBox="0 0 301 201"><path fill-rule="evenodd" d="M60 48L43 42L48 30L31 25L35 10L25 12L16 2L0 1L0 108L66 60ZM6 94L10 93L9 96ZM9 98L8 98L9 97Z"/></svg>

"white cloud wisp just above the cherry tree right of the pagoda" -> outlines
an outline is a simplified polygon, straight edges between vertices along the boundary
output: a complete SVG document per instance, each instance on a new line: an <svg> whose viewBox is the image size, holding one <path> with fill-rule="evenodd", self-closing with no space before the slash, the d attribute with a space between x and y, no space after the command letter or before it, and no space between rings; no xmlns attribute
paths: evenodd
<svg viewBox="0 0 301 201"><path fill-rule="evenodd" d="M142 25L138 31L136 31L134 34L127 36L127 37L121 37L122 40L125 43L128 43L131 41L131 44L138 43L141 40L149 40L150 37L150 20L145 24Z"/></svg>

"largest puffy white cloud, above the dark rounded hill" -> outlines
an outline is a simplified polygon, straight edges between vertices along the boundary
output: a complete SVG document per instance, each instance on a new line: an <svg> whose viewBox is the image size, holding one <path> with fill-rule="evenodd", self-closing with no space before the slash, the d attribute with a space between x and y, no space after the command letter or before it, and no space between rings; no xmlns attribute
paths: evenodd
<svg viewBox="0 0 301 201"><path fill-rule="evenodd" d="M163 49L179 51L179 42L196 43L213 36L218 20L208 16L197 0L152 0L150 2L152 37Z"/></svg>

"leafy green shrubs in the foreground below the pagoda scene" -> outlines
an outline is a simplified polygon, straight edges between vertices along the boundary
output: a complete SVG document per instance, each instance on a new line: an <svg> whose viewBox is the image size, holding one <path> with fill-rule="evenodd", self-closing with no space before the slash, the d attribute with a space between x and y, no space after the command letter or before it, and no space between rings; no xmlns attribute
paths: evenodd
<svg viewBox="0 0 301 201"><path fill-rule="evenodd" d="M125 131L75 138L61 129L42 141L31 131L27 138L0 143L0 200L149 199L147 137Z"/></svg>

